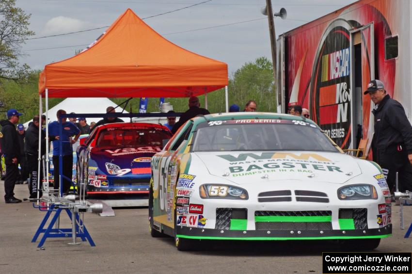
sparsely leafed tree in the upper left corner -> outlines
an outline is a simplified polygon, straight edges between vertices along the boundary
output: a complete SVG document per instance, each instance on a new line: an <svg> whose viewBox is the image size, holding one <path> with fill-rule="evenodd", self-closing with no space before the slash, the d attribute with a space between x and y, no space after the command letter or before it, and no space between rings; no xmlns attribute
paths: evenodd
<svg viewBox="0 0 412 274"><path fill-rule="evenodd" d="M0 1L0 79L21 80L30 77L30 67L19 64L21 46L34 32L29 30L29 19L16 0Z"/></svg>

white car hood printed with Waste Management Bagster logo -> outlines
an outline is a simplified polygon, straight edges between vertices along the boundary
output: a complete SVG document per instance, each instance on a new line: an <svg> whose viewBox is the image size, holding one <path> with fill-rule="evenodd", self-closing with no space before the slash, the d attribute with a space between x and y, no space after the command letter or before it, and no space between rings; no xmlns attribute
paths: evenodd
<svg viewBox="0 0 412 274"><path fill-rule="evenodd" d="M362 171L357 159L318 151L195 152L211 175L236 184L300 180L343 184Z"/></svg>

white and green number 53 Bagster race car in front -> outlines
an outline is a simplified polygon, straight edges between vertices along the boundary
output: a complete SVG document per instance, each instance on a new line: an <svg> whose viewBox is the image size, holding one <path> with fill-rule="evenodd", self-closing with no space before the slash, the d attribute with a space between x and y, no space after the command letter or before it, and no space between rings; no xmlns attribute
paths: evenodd
<svg viewBox="0 0 412 274"><path fill-rule="evenodd" d="M374 249L391 236L380 167L344 154L311 120L220 113L184 124L151 162L151 235L331 240Z"/></svg>

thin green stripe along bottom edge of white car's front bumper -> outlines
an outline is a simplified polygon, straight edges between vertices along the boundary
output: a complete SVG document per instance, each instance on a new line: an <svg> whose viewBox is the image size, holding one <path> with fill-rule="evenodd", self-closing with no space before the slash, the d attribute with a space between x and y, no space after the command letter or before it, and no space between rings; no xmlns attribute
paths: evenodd
<svg viewBox="0 0 412 274"><path fill-rule="evenodd" d="M376 239L376 238L387 238L392 236L392 234L386 235L377 235L377 236L331 236L331 237L295 237L295 238L288 238L288 237L244 237L244 238L231 238L231 237L208 237L208 236L187 236L187 235L180 235L177 234L176 237L179 238L187 238L187 239L199 239L199 240L251 240L251 241L283 241L283 240L336 240L336 239Z"/></svg>

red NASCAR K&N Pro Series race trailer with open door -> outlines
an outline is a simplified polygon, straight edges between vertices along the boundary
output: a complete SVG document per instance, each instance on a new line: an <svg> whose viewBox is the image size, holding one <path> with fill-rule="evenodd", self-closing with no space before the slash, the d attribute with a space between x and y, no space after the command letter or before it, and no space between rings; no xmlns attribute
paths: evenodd
<svg viewBox="0 0 412 274"><path fill-rule="evenodd" d="M411 119L411 11L410 0L360 0L280 35L278 112L302 105L341 148L368 139L369 150L374 104L363 91L379 79Z"/></svg>

